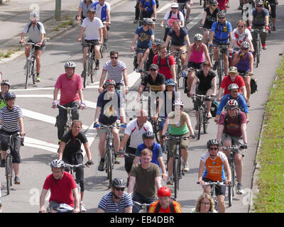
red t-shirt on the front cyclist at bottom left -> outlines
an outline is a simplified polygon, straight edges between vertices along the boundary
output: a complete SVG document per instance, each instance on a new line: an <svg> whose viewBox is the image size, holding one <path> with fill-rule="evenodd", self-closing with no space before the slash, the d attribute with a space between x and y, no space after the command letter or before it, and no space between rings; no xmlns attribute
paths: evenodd
<svg viewBox="0 0 284 227"><path fill-rule="evenodd" d="M43 189L50 189L49 201L56 201L58 204L68 204L74 207L72 190L77 188L74 177L69 172L63 172L61 179L55 179L53 174L46 177Z"/></svg>

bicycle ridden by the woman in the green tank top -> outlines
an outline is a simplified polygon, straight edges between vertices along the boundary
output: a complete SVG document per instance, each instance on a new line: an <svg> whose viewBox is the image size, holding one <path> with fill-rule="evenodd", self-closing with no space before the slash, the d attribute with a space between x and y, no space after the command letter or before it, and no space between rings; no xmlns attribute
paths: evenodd
<svg viewBox="0 0 284 227"><path fill-rule="evenodd" d="M178 196L178 190L180 189L180 179L182 179L182 175L185 175L183 171L183 159L180 150L181 140L189 140L189 136L170 136L166 135L166 140L175 140L175 144L177 145L175 148L175 152L173 153L173 182L175 184L175 199ZM166 149L166 148L165 148ZM169 160L168 160L169 161ZM167 162L168 162L167 161Z"/></svg>

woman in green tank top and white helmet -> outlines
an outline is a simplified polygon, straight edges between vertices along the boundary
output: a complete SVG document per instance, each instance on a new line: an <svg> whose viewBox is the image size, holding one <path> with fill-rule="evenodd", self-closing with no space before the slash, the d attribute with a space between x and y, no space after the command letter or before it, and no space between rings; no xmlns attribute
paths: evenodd
<svg viewBox="0 0 284 227"><path fill-rule="evenodd" d="M165 138L165 133L168 131L169 128L169 135L180 137L180 136L190 136L190 138L195 137L195 133L192 129L191 122L190 122L190 116L188 116L187 113L185 113L183 110L183 101L180 99L177 99L175 101L175 111L170 112L168 114L168 117L165 121L165 125L163 127L163 133L162 138ZM183 170L185 172L188 172L190 168L188 167L187 163L187 157L188 157L188 150L187 147L189 145L189 140L182 140L180 143L180 150L181 155L183 158L184 166ZM168 147L169 147L169 157L170 160L168 160L168 179L167 184L173 184L173 153L175 153L175 140L169 140L168 141Z"/></svg>

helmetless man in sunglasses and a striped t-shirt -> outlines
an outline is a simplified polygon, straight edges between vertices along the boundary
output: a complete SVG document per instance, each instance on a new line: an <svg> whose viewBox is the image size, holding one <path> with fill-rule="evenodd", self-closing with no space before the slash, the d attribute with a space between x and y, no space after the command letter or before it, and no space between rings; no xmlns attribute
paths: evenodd
<svg viewBox="0 0 284 227"><path fill-rule="evenodd" d="M124 62L119 60L119 52L111 51L109 53L111 60L104 63L102 67L102 76L99 79L99 94L104 91L102 87L104 84L104 79L112 79L116 82L116 89L120 90L124 87L126 94L129 92L129 80L127 77L126 65Z"/></svg>

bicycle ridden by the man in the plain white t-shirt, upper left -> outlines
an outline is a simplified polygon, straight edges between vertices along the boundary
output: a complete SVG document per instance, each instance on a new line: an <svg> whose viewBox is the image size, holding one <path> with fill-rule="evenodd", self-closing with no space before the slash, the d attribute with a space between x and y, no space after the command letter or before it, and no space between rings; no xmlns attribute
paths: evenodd
<svg viewBox="0 0 284 227"><path fill-rule="evenodd" d="M89 47L88 48L88 52L87 55L85 57L84 60L84 71L83 71L83 75L84 75L84 81L83 81L83 85L84 88L86 87L87 84L87 77L91 77L91 82L94 83L94 81L96 80L97 77L97 70L96 67L94 67L95 62L95 55L94 55L94 43L86 43L83 40L80 40L81 45L83 45L83 49L84 47Z"/></svg>

